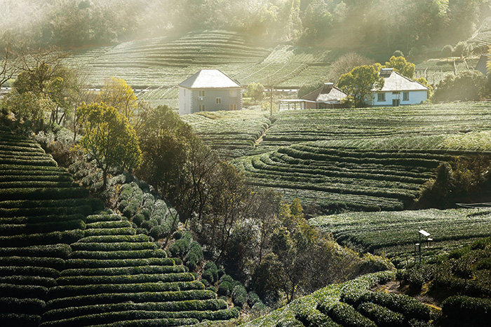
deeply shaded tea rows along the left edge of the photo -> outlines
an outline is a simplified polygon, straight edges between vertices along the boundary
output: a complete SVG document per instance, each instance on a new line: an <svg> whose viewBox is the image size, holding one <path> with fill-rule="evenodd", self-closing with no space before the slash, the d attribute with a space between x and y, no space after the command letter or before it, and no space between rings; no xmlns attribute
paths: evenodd
<svg viewBox="0 0 491 327"><path fill-rule="evenodd" d="M38 326L49 290L102 209L38 144L0 129L0 321Z"/></svg>

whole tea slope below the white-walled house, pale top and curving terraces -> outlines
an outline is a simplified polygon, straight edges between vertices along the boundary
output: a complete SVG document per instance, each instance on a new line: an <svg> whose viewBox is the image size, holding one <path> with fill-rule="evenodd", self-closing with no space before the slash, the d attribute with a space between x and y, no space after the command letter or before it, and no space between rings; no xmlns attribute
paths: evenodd
<svg viewBox="0 0 491 327"><path fill-rule="evenodd" d="M442 162L491 152L483 103L282 111L271 121L235 165L253 184L324 212L404 209Z"/></svg>

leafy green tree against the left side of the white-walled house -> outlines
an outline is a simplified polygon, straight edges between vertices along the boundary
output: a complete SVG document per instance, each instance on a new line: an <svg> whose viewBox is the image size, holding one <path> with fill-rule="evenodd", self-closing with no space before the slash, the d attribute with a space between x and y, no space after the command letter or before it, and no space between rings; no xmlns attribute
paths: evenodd
<svg viewBox="0 0 491 327"><path fill-rule="evenodd" d="M342 75L337 85L358 108L366 106L368 97L372 96L372 89L381 90L384 87L384 78L379 76L379 71L373 66L358 66Z"/></svg>

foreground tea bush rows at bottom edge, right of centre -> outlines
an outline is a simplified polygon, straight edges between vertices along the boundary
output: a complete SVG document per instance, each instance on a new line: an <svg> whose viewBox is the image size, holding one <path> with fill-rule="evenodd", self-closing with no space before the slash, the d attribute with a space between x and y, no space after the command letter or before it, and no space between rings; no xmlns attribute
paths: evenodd
<svg viewBox="0 0 491 327"><path fill-rule="evenodd" d="M379 272L330 285L242 326L429 326L438 311L408 295L370 291L395 276Z"/></svg>

